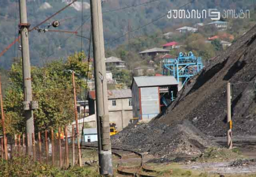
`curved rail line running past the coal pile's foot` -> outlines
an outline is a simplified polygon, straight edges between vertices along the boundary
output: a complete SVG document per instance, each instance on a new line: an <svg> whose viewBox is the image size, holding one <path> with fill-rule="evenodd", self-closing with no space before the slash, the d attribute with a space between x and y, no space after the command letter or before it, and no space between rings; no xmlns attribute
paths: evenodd
<svg viewBox="0 0 256 177"><path fill-rule="evenodd" d="M81 145L81 149L98 149L98 147L92 146L92 145ZM118 174L133 176L133 177L158 177L156 175L148 174L148 173L157 173L157 171L147 167L144 164L144 161L143 161L144 156L140 152L137 152L131 149L112 148L112 154L117 156L119 159L123 159L124 155L122 155L120 152L117 152L117 151L131 152L131 153L134 153L135 155L138 155L141 158L140 165L134 166L134 167L124 167L122 166L122 162L120 162L117 168ZM145 172L147 174L143 174L142 172Z"/></svg>

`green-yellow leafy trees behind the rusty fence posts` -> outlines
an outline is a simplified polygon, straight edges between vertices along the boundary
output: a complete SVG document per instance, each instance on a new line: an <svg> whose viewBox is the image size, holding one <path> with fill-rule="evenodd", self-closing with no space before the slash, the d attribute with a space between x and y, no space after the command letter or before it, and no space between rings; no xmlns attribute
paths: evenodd
<svg viewBox="0 0 256 177"><path fill-rule="evenodd" d="M88 65L82 60L84 54L75 53L66 62L56 60L44 67L32 67L33 100L38 101L39 108L33 111L35 129L37 131L65 126L74 119L74 98L72 75L74 70L77 94L80 85L85 82L80 79L86 76ZM82 60L82 62L81 62ZM80 75L81 74L81 75ZM14 63L9 72L9 87L4 98L7 133L21 133L25 131L23 111L23 75L21 63Z"/></svg>

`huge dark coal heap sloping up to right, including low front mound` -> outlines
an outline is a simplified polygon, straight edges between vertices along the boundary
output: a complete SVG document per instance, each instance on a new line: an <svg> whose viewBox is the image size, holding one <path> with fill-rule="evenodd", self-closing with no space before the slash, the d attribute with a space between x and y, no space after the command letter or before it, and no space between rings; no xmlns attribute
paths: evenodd
<svg viewBox="0 0 256 177"><path fill-rule="evenodd" d="M159 155L197 154L214 145L205 135L226 136L227 81L232 86L233 136L255 134L256 26L204 65L164 115L126 127L113 137L113 145Z"/></svg>

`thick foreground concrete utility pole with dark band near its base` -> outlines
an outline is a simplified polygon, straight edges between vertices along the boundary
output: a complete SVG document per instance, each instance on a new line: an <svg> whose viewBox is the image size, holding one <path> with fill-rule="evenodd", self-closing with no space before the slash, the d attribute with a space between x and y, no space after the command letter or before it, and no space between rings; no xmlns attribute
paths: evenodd
<svg viewBox="0 0 256 177"><path fill-rule="evenodd" d="M96 91L99 170L101 175L113 176L112 152L109 135L108 91L102 25L102 4L101 0L90 0L90 3Z"/></svg>

